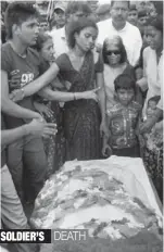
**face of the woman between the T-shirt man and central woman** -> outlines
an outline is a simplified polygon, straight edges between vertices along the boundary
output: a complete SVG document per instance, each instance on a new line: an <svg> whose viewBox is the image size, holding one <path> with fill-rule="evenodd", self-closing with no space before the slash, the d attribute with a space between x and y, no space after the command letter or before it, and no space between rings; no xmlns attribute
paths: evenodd
<svg viewBox="0 0 164 252"><path fill-rule="evenodd" d="M51 38L45 41L42 49L41 49L41 55L45 61L48 61L48 62L54 61L54 48L53 48L53 41Z"/></svg>

